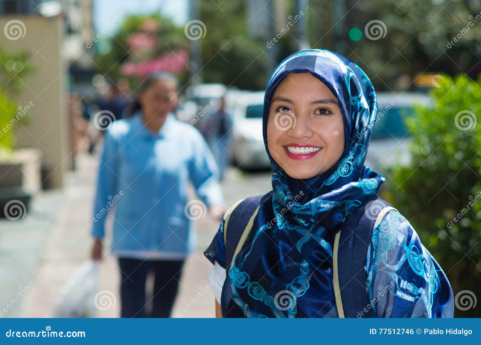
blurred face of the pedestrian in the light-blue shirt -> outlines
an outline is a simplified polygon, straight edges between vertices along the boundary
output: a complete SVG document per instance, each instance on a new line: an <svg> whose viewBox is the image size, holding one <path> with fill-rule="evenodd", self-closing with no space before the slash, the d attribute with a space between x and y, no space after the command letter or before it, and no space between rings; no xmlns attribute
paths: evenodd
<svg viewBox="0 0 481 345"><path fill-rule="evenodd" d="M158 80L139 95L142 114L147 119L162 118L177 105L177 84L169 80Z"/></svg>

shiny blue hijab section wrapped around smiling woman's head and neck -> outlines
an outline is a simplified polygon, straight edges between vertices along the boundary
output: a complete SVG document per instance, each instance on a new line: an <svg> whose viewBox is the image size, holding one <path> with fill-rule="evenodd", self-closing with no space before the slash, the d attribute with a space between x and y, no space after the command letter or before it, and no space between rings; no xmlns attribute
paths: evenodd
<svg viewBox="0 0 481 345"><path fill-rule="evenodd" d="M288 73L305 72L326 84L337 97L344 121L345 148L342 158L329 171L300 180L289 177L269 154L266 128L270 100L279 83ZM364 166L377 111L371 81L353 61L342 55L329 50L304 50L292 54L276 68L266 88L263 134L274 167L273 207L279 228L323 226L334 231L367 195L377 193L384 178Z"/></svg>

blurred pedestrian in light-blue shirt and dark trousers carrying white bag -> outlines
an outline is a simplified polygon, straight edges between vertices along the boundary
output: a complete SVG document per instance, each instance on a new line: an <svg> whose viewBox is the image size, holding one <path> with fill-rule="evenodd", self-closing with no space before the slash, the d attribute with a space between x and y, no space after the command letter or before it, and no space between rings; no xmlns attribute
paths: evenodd
<svg viewBox="0 0 481 345"><path fill-rule="evenodd" d="M92 257L102 257L104 214L115 205L111 250L120 268L122 317L169 317L184 260L196 248L191 220L207 208L216 219L223 214L214 158L202 135L194 128L184 131L185 124L174 118L176 104L176 77L156 72L139 86L129 117L104 135ZM201 201L188 202L190 181ZM149 272L150 314L144 308Z"/></svg>

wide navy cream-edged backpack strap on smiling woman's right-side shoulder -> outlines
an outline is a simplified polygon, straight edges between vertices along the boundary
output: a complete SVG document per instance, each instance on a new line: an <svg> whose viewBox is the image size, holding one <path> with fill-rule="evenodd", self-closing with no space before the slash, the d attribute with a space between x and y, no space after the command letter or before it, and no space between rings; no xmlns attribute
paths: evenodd
<svg viewBox="0 0 481 345"><path fill-rule="evenodd" d="M333 283L340 318L371 317L365 264L373 230L396 210L376 195L368 196L345 219L334 238Z"/></svg>

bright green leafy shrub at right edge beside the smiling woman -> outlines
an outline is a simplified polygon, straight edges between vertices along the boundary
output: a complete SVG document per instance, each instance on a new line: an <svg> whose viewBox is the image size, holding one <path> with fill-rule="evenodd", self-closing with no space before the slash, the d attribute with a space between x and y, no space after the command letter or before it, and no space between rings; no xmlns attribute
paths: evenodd
<svg viewBox="0 0 481 345"><path fill-rule="evenodd" d="M443 76L432 107L415 107L405 122L412 161L392 169L383 195L418 232L447 274L453 293L481 298L481 79ZM479 301L481 303L481 300ZM481 306L457 317L480 317Z"/></svg>

